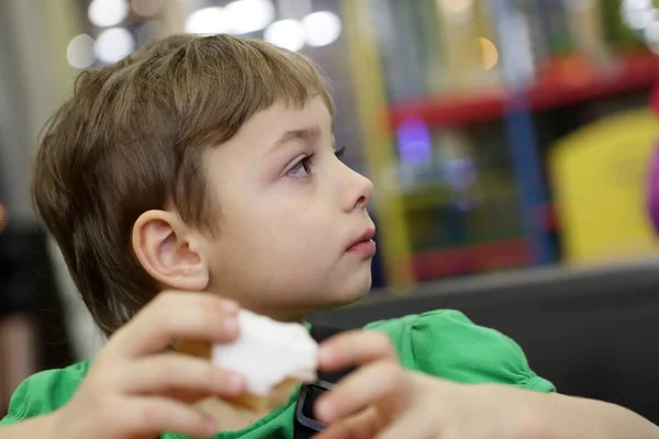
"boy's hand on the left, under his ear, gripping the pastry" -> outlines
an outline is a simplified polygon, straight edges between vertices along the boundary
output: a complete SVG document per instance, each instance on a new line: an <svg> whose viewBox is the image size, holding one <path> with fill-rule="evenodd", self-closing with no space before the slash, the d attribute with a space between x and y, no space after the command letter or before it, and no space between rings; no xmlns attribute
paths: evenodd
<svg viewBox="0 0 659 439"><path fill-rule="evenodd" d="M208 360L164 350L178 339L234 340L237 311L235 303L211 294L160 293L109 340L78 392L55 413L55 431L48 437L153 439L164 431L214 434L219 426L187 404L189 396L235 397L244 391L243 378Z"/></svg>

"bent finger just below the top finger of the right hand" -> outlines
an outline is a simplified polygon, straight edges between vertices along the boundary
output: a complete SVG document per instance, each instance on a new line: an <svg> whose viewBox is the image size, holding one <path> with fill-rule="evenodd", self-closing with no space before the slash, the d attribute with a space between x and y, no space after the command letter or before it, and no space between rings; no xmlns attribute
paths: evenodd
<svg viewBox="0 0 659 439"><path fill-rule="evenodd" d="M381 360L362 367L321 396L316 417L325 424L353 415L382 397L402 397L406 389L405 371L396 363ZM400 392L400 396L394 395ZM404 404L404 401L396 401Z"/></svg>

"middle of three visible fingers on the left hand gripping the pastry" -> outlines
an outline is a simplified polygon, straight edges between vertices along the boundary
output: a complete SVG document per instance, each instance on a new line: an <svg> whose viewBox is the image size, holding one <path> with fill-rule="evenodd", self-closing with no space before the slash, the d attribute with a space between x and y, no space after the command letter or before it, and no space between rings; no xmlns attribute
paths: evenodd
<svg viewBox="0 0 659 439"><path fill-rule="evenodd" d="M179 395L194 395L186 399L209 395L236 397L245 391L245 380L239 373L180 353L163 353L137 360L127 368L123 380L126 393L179 392Z"/></svg>

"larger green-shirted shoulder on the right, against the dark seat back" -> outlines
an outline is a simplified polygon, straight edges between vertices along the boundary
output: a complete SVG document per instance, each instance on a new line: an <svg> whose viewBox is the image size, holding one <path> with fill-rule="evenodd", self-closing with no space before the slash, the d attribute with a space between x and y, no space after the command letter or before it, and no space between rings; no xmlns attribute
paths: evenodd
<svg viewBox="0 0 659 439"><path fill-rule="evenodd" d="M403 365L462 383L499 383L540 392L554 385L533 372L522 348L503 334L473 324L465 314L439 309L391 320L367 329L392 340Z"/></svg>

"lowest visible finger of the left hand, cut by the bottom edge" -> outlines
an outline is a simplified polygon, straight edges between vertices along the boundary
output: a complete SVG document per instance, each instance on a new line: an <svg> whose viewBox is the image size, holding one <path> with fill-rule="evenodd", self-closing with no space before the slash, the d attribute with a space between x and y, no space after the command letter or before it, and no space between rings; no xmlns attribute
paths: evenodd
<svg viewBox="0 0 659 439"><path fill-rule="evenodd" d="M211 437L220 428L208 415L186 404L161 397L131 398L114 413L121 419L121 437L171 431L191 437Z"/></svg>

